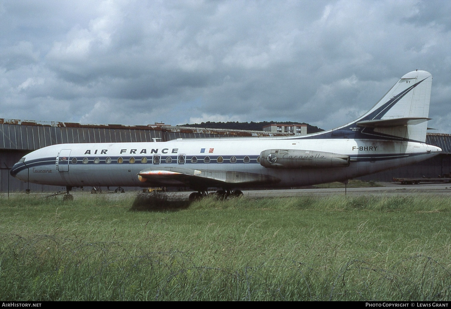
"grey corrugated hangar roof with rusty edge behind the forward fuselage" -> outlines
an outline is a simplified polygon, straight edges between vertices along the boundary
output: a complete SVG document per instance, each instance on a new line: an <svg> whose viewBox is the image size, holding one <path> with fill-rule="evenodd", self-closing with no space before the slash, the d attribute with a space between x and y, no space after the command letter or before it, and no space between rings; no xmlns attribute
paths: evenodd
<svg viewBox="0 0 451 309"><path fill-rule="evenodd" d="M263 131L179 126L82 125L0 118L0 149L35 150L55 144L154 142L176 138L286 136Z"/></svg>

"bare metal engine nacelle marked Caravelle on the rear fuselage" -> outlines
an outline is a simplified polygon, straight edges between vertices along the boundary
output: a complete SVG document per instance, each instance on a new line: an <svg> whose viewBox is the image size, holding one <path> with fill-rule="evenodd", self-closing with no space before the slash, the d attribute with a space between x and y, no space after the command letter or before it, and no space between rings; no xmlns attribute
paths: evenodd
<svg viewBox="0 0 451 309"><path fill-rule="evenodd" d="M333 168L350 164L349 155L295 149L268 149L260 153L260 164L272 169Z"/></svg>

